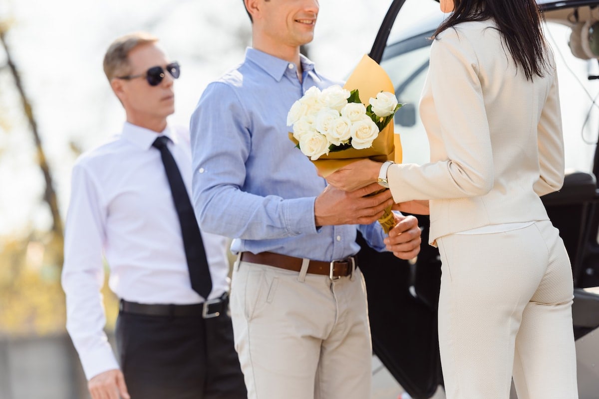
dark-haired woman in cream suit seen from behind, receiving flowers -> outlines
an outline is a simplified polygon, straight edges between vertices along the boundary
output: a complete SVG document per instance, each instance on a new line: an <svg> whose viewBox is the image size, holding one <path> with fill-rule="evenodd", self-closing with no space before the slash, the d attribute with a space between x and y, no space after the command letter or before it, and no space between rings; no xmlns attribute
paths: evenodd
<svg viewBox="0 0 599 399"><path fill-rule="evenodd" d="M431 162L366 159L327 180L353 190L378 179L412 213L430 200L448 399L507 399L512 375L519 399L576 399L570 261L539 198L564 179L539 10L534 0L441 0L441 10L451 14L420 102Z"/></svg>

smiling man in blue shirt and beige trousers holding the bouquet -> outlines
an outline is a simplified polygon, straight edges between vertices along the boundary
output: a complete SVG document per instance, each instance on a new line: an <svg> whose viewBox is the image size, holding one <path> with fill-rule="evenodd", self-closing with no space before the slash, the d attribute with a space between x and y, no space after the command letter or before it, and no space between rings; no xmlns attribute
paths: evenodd
<svg viewBox="0 0 599 399"><path fill-rule="evenodd" d="M250 399L370 396L371 343L356 229L379 251L411 259L414 217L385 238L392 204L373 183L326 186L288 139L286 116L308 88L333 82L300 56L316 0L244 0L253 48L208 85L191 120L193 203L203 231L234 237L235 347ZM357 226L356 226L357 225ZM383 241L385 240L385 241Z"/></svg>

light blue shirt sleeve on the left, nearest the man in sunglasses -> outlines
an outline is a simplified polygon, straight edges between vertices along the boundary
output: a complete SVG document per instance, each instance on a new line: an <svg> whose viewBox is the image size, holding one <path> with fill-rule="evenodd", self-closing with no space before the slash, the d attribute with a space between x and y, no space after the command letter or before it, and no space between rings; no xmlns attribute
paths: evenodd
<svg viewBox="0 0 599 399"><path fill-rule="evenodd" d="M246 240L316 233L314 197L283 199L243 191L251 123L228 84L208 85L190 121L192 197L201 229Z"/></svg>

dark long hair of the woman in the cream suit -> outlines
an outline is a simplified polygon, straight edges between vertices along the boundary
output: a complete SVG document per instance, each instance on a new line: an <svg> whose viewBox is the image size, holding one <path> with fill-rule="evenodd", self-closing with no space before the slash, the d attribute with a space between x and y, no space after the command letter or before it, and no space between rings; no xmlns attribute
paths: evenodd
<svg viewBox="0 0 599 399"><path fill-rule="evenodd" d="M544 76L548 62L541 15L535 0L454 0L452 14L437 28L433 38L461 22L494 19L516 65L528 80Z"/></svg>

